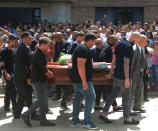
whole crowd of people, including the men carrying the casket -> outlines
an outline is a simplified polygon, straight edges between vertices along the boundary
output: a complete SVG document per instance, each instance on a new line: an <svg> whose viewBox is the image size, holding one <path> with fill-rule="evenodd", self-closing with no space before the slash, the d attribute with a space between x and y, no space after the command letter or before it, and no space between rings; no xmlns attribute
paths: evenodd
<svg viewBox="0 0 158 131"><path fill-rule="evenodd" d="M53 90L48 79L54 77L47 62L57 62L61 52L72 56L72 126L98 129L91 120L94 103L95 110L103 110L99 119L105 123L112 123L107 117L112 105L114 111L123 110L124 124L139 124L131 116L136 116L136 112L145 113L142 105L143 100L149 101L149 89L158 91L158 22L3 25L0 27L0 66L1 77L6 81L4 111L10 111L11 101L14 118L23 118L27 126L32 126L30 116L32 120L39 120L41 126L55 125L46 118L48 96ZM111 63L113 85L93 87L93 62ZM153 78L156 78L155 86ZM61 99L62 89L60 107L65 110L71 86L56 86L53 100ZM115 99L119 92L122 92L122 107ZM100 104L102 96L104 107ZM24 106L28 110L21 114ZM81 122L79 112L83 109L85 115Z"/></svg>

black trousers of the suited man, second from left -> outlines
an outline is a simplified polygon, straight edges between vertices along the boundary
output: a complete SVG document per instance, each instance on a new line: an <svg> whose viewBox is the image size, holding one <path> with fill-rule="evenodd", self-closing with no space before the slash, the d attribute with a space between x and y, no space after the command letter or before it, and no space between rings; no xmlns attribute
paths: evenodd
<svg viewBox="0 0 158 131"><path fill-rule="evenodd" d="M20 117L24 105L28 108L32 105L32 87L27 82L16 81L16 87L18 92L17 106L14 112L14 116Z"/></svg>

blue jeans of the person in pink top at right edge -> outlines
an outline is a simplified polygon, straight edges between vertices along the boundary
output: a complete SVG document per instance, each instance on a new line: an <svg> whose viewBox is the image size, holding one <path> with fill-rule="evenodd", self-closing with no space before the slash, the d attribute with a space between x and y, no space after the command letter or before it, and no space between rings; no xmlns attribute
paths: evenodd
<svg viewBox="0 0 158 131"><path fill-rule="evenodd" d="M158 87L158 65L152 65L150 68L150 86L152 87L153 76L156 76L156 87Z"/></svg>

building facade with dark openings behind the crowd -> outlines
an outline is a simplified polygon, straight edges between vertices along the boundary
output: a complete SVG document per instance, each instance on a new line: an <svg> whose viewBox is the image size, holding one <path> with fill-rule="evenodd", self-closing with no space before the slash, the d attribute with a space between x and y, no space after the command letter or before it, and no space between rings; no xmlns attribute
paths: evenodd
<svg viewBox="0 0 158 131"><path fill-rule="evenodd" d="M158 21L158 0L0 0L0 24L6 22L133 23Z"/></svg>

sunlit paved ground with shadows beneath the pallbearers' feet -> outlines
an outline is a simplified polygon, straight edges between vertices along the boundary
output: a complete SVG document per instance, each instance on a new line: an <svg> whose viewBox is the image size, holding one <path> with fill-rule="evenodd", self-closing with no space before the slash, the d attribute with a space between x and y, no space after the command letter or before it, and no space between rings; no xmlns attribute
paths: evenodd
<svg viewBox="0 0 158 131"><path fill-rule="evenodd" d="M99 126L98 131L157 131L158 125L158 93L154 93L150 102L144 104L144 108L147 110L144 114L139 114L135 119L141 120L140 124L124 125L122 112L110 112L109 118L114 121L113 124L104 124L98 119L99 112L93 111L93 120ZM119 105L121 104L121 98L117 98ZM72 101L68 103L72 109ZM3 98L0 98L0 131L84 131L87 130L81 127L71 127L71 111L63 112L59 105L59 102L52 102L49 100L50 109L53 114L47 115L49 120L56 123L56 127L39 127L39 122L31 121L33 127L27 128L22 120L15 120L11 113L5 114L3 112ZM27 108L25 108L26 110ZM83 112L80 113L80 118L83 119Z"/></svg>

